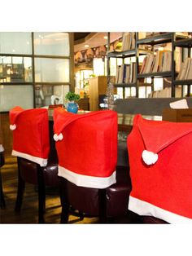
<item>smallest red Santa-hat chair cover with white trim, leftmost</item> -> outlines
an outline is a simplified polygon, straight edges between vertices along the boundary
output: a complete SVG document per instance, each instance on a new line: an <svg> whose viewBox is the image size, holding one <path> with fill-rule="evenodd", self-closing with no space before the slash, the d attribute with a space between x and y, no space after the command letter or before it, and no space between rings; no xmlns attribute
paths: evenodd
<svg viewBox="0 0 192 256"><path fill-rule="evenodd" d="M13 130L12 155L46 166L50 151L47 109L12 108L10 123Z"/></svg>

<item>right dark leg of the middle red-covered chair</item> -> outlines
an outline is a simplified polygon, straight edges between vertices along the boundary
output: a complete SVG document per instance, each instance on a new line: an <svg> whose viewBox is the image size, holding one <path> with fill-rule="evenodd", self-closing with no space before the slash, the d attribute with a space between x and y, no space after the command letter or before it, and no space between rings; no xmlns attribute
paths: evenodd
<svg viewBox="0 0 192 256"><path fill-rule="evenodd" d="M98 217L99 223L107 223L106 189L98 190Z"/></svg>

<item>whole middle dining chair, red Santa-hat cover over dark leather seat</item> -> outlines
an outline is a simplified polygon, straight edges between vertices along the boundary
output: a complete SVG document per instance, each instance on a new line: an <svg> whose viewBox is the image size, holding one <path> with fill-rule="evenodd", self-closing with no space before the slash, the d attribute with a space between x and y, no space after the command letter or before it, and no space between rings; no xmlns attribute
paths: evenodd
<svg viewBox="0 0 192 256"><path fill-rule="evenodd" d="M63 178L61 223L68 223L69 206L84 216L98 216L100 223L126 215L131 188L127 173L116 170L117 113L73 114L57 108L54 130Z"/></svg>

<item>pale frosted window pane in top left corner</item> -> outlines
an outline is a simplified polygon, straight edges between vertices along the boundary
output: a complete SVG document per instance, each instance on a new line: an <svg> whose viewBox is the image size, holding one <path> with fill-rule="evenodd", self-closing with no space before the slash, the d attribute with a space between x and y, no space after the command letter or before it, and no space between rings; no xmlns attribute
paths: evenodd
<svg viewBox="0 0 192 256"><path fill-rule="evenodd" d="M32 54L31 33L1 32L0 52L7 54Z"/></svg>

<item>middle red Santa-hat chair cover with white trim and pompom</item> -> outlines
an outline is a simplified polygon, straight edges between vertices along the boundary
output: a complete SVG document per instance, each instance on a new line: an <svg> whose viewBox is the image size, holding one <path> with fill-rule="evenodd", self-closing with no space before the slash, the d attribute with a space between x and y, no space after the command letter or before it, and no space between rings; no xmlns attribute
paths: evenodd
<svg viewBox="0 0 192 256"><path fill-rule="evenodd" d="M54 130L59 176L89 188L116 183L116 112L73 114L55 108Z"/></svg>

